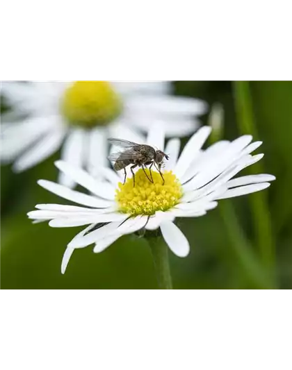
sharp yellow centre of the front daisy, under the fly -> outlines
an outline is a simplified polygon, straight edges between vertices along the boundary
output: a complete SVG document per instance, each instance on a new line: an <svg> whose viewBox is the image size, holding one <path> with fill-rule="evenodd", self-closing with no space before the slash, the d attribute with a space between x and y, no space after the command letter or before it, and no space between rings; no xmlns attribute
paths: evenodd
<svg viewBox="0 0 292 370"><path fill-rule="evenodd" d="M146 170L146 173L151 178L149 170ZM152 178L154 183L148 180L143 169L139 169L135 174L135 186L133 186L133 178L128 178L124 185L119 183L115 200L120 212L132 216L150 216L159 210L169 210L179 203L182 188L172 171L163 173L164 185L159 173L152 171Z"/></svg>

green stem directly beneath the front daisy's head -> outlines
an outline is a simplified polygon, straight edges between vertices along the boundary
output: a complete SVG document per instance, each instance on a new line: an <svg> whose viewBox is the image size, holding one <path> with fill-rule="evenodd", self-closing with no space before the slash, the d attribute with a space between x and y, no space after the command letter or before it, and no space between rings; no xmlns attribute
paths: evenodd
<svg viewBox="0 0 292 370"><path fill-rule="evenodd" d="M168 246L161 237L147 237L147 241L152 251L159 290L171 293L172 279L168 260Z"/></svg>

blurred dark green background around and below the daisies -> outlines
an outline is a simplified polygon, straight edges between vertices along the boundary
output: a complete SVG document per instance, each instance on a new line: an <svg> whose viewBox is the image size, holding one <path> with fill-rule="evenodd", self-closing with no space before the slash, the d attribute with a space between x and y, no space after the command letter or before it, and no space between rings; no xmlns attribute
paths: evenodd
<svg viewBox="0 0 292 370"><path fill-rule="evenodd" d="M222 138L234 140L248 133L263 141L254 153L265 157L246 173L277 177L260 195L220 201L204 217L178 220L191 246L188 258L170 253L173 285L179 291L292 289L292 81L254 80L248 87L236 100L233 81L175 83L176 94L204 99L210 106L222 103ZM250 117L244 117L248 112L241 93L252 103L252 128L245 125ZM208 123L208 115L203 121ZM36 184L40 178L56 180L57 158L58 153L19 175L9 166L0 168L0 290L156 289L151 252L135 235L122 237L98 255L92 247L75 251L61 275L66 245L82 228L33 225L26 217L35 204L63 203Z"/></svg>

